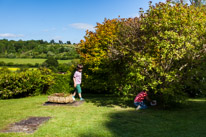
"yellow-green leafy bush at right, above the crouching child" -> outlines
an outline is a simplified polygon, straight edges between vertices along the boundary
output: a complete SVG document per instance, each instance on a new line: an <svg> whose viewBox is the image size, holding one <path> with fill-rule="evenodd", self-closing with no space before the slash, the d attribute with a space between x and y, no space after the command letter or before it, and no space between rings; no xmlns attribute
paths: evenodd
<svg viewBox="0 0 206 137"><path fill-rule="evenodd" d="M137 44L142 48L135 52L132 73L137 82L144 83L143 88L151 88L165 102L185 96L185 76L193 69L192 64L201 65L198 60L204 57L205 13L203 7L171 6L168 2L150 6L141 17Z"/></svg>

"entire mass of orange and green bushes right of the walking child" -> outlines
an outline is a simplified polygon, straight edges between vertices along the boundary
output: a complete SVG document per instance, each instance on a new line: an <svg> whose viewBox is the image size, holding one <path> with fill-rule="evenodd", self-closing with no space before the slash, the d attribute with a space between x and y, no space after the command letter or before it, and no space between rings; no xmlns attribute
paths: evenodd
<svg viewBox="0 0 206 137"><path fill-rule="evenodd" d="M150 3L140 13L139 18L105 20L96 32L87 31L79 44L84 87L122 95L145 89L165 104L181 101L187 88L194 89L188 81L198 79L198 88L205 84L199 74L205 73L206 10L168 1Z"/></svg>

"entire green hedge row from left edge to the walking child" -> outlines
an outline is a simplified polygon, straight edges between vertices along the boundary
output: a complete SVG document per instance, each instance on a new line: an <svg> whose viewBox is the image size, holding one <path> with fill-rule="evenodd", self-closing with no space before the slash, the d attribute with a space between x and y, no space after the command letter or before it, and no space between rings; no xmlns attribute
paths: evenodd
<svg viewBox="0 0 206 137"><path fill-rule="evenodd" d="M56 92L71 92L71 76L54 74L50 69L26 70L24 72L9 72L0 70L0 98L19 98Z"/></svg>

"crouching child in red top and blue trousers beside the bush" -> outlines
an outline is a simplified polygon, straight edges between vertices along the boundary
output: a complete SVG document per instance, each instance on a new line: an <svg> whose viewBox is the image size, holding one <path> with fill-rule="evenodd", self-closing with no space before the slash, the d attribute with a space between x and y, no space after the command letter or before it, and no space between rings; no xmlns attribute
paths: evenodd
<svg viewBox="0 0 206 137"><path fill-rule="evenodd" d="M146 109L147 105L144 103L144 100L152 102L151 99L148 97L148 91L142 91L134 99L134 105L136 106L136 110L139 109Z"/></svg>

